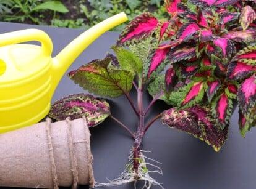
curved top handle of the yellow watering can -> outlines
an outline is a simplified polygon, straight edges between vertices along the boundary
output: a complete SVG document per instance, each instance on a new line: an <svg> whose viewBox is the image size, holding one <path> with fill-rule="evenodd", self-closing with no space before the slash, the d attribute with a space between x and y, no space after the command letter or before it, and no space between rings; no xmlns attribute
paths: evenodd
<svg viewBox="0 0 256 189"><path fill-rule="evenodd" d="M40 42L43 54L51 56L51 52L53 51L53 42L51 42L51 38L49 38L48 34L42 30L25 29L0 34L0 47L28 41Z"/></svg>

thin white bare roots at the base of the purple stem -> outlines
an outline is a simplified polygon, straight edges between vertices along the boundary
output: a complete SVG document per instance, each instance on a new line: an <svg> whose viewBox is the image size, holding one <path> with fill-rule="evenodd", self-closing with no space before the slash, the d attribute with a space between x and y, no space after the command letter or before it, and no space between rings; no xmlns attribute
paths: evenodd
<svg viewBox="0 0 256 189"><path fill-rule="evenodd" d="M119 177L117 179L114 180L109 180L109 183L95 183L95 187L101 187L101 186L117 186L117 185L124 185L126 183L130 183L130 182L134 182L134 188L136 189L136 183L137 180L143 180L144 181L144 185L141 189L150 189L151 185L158 185L160 188L164 189L163 186L161 185L161 183L156 182L155 179L153 179L152 177L150 177L149 173L152 172L156 172L158 174L163 174L162 170L160 167L151 164L151 163L147 163L145 161L145 159L148 159L150 161L153 161L155 163L161 164L158 161L155 161L154 159L151 158L147 158L143 153L145 152L150 152L150 151L140 151L140 164L138 167L138 173L136 173L132 168L133 168L133 151L130 151L130 155L129 155L129 163L126 166L126 169L124 169L124 171L119 174ZM147 166L151 166L153 168L155 168L154 170L149 170L147 168ZM93 187L93 188L95 188Z"/></svg>

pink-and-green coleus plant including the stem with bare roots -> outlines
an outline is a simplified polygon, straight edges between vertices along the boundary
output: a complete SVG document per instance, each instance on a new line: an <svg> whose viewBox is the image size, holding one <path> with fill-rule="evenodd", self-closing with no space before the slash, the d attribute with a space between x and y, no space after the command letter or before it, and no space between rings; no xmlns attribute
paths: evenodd
<svg viewBox="0 0 256 189"><path fill-rule="evenodd" d="M105 99L90 94L58 100L50 116L75 119L83 115L89 126L108 116L113 118L134 138L134 145L129 170L111 184L143 179L146 188L160 185L148 174L140 149L145 132L156 119L205 141L215 151L228 137L229 121L237 104L241 135L244 137L255 126L255 2L166 0L166 20L158 20L150 13L138 15L112 47L115 55L109 53L103 60L93 60L68 74L95 95L126 95L139 118L136 132L111 115ZM137 91L137 103L129 95L132 87ZM145 109L143 90L153 97ZM145 116L156 100L163 100L170 108L146 125Z"/></svg>

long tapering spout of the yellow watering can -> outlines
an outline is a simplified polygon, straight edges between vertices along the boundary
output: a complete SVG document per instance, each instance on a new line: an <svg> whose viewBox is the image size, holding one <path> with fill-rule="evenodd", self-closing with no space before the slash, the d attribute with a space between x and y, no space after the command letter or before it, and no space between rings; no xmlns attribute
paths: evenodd
<svg viewBox="0 0 256 189"><path fill-rule="evenodd" d="M72 62L74 62L74 60L83 52L83 50L92 44L95 39L100 37L101 34L126 21L127 16L124 12L114 15L113 17L109 17L80 34L80 36L75 38L64 49L62 49L61 52L53 58L51 95L53 95L63 74L67 71Z"/></svg>

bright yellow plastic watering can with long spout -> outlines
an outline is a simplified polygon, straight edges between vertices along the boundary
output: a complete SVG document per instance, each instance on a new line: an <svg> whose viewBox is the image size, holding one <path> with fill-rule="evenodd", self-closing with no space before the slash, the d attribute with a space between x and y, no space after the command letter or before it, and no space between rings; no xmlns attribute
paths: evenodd
<svg viewBox="0 0 256 189"><path fill-rule="evenodd" d="M98 23L56 57L48 34L27 29L0 34L0 133L35 124L49 112L51 97L67 68L101 34L123 22L123 12ZM39 41L41 46L17 44Z"/></svg>

